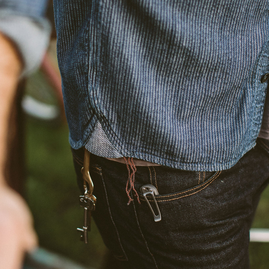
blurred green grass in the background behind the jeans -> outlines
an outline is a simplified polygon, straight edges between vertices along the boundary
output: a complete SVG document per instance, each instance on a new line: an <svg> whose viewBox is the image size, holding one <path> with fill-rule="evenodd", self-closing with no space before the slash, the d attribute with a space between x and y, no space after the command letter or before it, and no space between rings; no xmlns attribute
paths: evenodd
<svg viewBox="0 0 269 269"><path fill-rule="evenodd" d="M41 101L56 104L52 89L39 72L30 78L26 92ZM26 146L26 196L40 245L86 266L102 268L106 248L97 227L92 223L88 245L79 240L76 231L83 224L83 209L79 206L80 193L67 125L26 117ZM253 228L269 228L268 215L267 187L261 196ZM269 267L269 243L250 243L249 251L252 269Z"/></svg>

